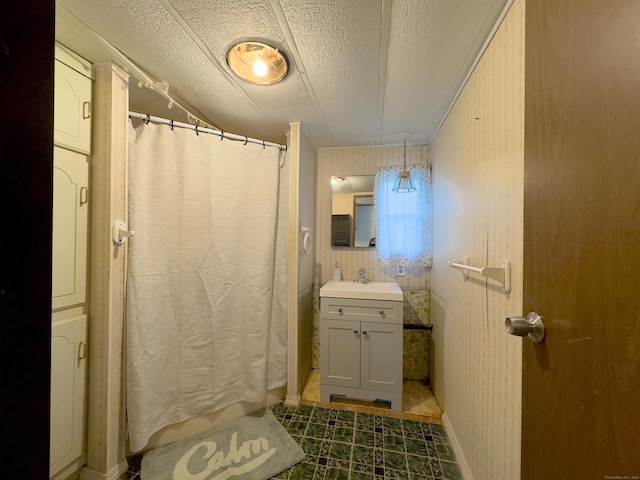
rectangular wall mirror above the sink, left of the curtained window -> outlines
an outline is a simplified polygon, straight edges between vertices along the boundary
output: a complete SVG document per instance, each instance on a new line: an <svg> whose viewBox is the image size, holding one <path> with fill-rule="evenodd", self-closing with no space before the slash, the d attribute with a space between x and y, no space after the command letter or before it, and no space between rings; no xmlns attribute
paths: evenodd
<svg viewBox="0 0 640 480"><path fill-rule="evenodd" d="M375 247L375 175L331 177L331 246Z"/></svg>

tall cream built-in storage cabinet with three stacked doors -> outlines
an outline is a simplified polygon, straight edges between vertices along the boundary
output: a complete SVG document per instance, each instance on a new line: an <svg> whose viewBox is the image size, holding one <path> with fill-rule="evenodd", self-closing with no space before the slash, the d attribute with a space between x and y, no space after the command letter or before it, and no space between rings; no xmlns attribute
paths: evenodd
<svg viewBox="0 0 640 480"><path fill-rule="evenodd" d="M55 48L49 475L85 463L91 65Z"/></svg>

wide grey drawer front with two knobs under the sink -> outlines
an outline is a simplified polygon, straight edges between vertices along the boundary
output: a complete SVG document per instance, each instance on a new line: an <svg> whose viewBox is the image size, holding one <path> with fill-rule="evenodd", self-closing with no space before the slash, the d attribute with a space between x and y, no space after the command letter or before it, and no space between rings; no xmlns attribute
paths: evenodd
<svg viewBox="0 0 640 480"><path fill-rule="evenodd" d="M323 297L320 316L335 320L364 320L402 324L402 302Z"/></svg>

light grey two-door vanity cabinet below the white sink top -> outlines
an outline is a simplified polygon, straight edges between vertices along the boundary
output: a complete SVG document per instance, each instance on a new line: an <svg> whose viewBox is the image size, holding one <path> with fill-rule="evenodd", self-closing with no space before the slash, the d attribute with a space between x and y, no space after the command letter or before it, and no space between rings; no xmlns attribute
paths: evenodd
<svg viewBox="0 0 640 480"><path fill-rule="evenodd" d="M343 396L402 410L402 302L320 300L320 400Z"/></svg>

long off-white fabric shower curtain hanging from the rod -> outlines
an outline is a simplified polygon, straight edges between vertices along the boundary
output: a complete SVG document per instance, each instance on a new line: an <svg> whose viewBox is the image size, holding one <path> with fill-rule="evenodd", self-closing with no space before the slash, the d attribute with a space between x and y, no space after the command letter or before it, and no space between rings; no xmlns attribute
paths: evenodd
<svg viewBox="0 0 640 480"><path fill-rule="evenodd" d="M132 451L159 429L286 382L284 153L130 128L126 292Z"/></svg>

